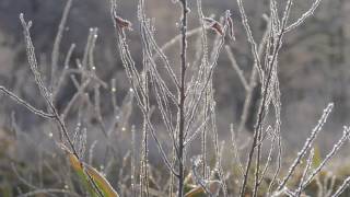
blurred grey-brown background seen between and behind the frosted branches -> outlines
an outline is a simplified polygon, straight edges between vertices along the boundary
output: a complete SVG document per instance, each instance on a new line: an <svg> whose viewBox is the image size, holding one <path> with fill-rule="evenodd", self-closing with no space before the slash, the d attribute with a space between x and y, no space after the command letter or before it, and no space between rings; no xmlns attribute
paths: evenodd
<svg viewBox="0 0 350 197"><path fill-rule="evenodd" d="M140 35L138 33L137 0L119 0L120 15L133 23L129 38L131 50L137 63L141 62ZM178 4L172 0L147 0L148 16L154 19L155 37L160 46L179 33L180 13ZM26 62L25 46L19 14L33 21L32 38L43 72L47 72L51 50L66 0L0 0L0 84L13 90L18 95L38 108L44 108L44 100L38 97L38 90ZM266 22L261 15L268 11L268 0L245 0L245 8L250 19L252 30L257 43L264 34ZM281 7L284 0L278 0ZM296 0L292 9L290 22L295 21L305 12L312 0ZM199 26L196 1L189 1L191 12L189 30ZM253 66L249 45L241 23L237 4L233 0L203 0L206 15L214 15L218 20L226 9L233 13L236 42L230 46L235 58L249 77ZM77 44L73 58L81 57L88 39L90 27L98 28L95 49L97 76L109 81L117 80L119 101L129 89L124 73L114 38L113 24L109 18L108 0L73 0L71 12L61 44L60 62L72 43ZM211 32L211 37L214 33ZM196 39L190 42L189 58L194 58ZM165 51L174 67L178 67L178 45ZM329 146L341 135L342 126L350 120L350 1L323 0L315 15L305 24L285 35L285 40L279 58L279 80L282 95L282 135L284 146L295 150L310 135L317 124L323 109L329 102L335 103L327 124L324 127L319 147L328 150ZM62 68L62 63L59 65ZM232 68L228 54L222 50L219 66L214 73L215 99L218 103L218 128L220 138L229 135L230 124L237 127L240 121L245 92L238 76ZM67 104L75 89L67 83L58 100L58 108ZM258 104L258 93L255 93L250 116L244 135L252 134L255 123L254 112ZM14 114L18 126L28 134L36 134L37 139L49 128L44 120L27 109L19 106L9 97L0 96L0 127L5 130ZM104 103L104 102L102 102ZM137 108L137 107L135 107ZM108 115L108 105L102 105L103 114ZM130 124L140 124L139 116L132 115ZM0 132L1 140L7 135ZM34 135L35 136L35 135ZM35 139L36 137L34 137ZM1 142L0 142L1 143Z"/></svg>

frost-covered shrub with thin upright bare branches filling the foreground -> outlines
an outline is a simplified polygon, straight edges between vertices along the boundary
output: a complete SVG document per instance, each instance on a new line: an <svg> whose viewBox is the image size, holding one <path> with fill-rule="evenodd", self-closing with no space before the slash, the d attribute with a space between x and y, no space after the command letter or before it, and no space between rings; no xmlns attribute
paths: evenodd
<svg viewBox="0 0 350 197"><path fill-rule="evenodd" d="M13 165L16 176L25 185L19 192L22 196L42 193L61 193L70 196L88 194L91 196L168 195L179 197L200 195L302 196L313 195L317 189L320 196L339 196L347 188L349 177L338 181L328 175L324 167L349 138L349 127L343 128L343 135L324 159L315 148L315 139L334 107L332 103L329 103L324 109L318 124L291 162L282 160L279 53L284 36L312 16L320 0L315 0L311 8L294 22L290 22L292 0L288 0L283 9L280 9L282 5L277 1L271 0L269 13L264 15L267 27L259 44L253 37L243 1L237 0L242 24L254 57L254 67L248 80L240 69L230 48L230 43L235 44L233 31L235 24L229 10L219 20L215 20L208 16L210 13L203 12L201 1L197 0L196 8L200 26L189 30L189 4L187 0L175 0L174 3L179 4L182 10L180 33L165 45L160 46L155 39L152 20L145 14L144 0L139 0L139 27L137 30L141 37L142 54L138 55L133 54L129 47L132 40L129 39L128 34L133 27L127 19L118 14L120 8L117 8L115 0L112 0L110 15L115 27L116 46L131 85L120 106L116 103L115 80L112 80L109 85L96 74L97 67L93 53L97 28L91 28L85 53L81 59L77 59L77 67L70 67L71 55L74 50L72 44L67 53L63 69L59 69L60 42L71 3L72 0L67 1L55 39L48 82L45 81L36 59L30 33L32 22L25 21L24 14L20 15L28 65L40 96L46 102L47 111L32 106L4 86L0 86L0 90L34 114L56 124L58 135L49 132L48 136L55 142L55 147L62 150L62 155L78 174L79 181L73 174L66 175L65 173L57 177L48 177L50 181L47 181L55 182L55 178L61 178L65 183L63 188L46 188L43 184L37 187L21 177ZM208 36L209 31L215 33L213 40ZM191 54L187 51L189 36L192 35L198 35L200 40L200 46L196 47L195 63L189 62L188 56ZM164 54L164 49L177 42L180 44L178 67L172 63ZM231 126L231 142L219 140L215 119L213 72L223 49L228 53L246 91L237 130L233 125ZM135 57L142 59L140 66L137 66ZM58 111L57 94L61 91L67 77L72 80L77 92L67 106ZM254 134L248 139L237 138L236 134L241 134L246 125L252 94L257 88L260 89L260 104L256 112ZM108 90L110 93L114 116L112 120L107 120L101 112L102 90ZM140 151L137 146L139 140L136 127L129 126L133 100L142 117ZM72 118L77 121L73 129L67 126L69 114L75 116ZM161 123L153 116L161 117ZM88 146L90 123L86 120L89 118L94 119L101 131L98 141L94 140L90 146ZM162 130L160 131L159 128ZM124 155L122 161L115 161L122 152L117 150L118 147L115 144L121 142L121 140L114 139L116 130L118 134L130 131L131 151ZM163 141L161 135L165 135L167 140ZM103 136L103 141L101 141L101 136ZM200 153L195 155L190 152L197 140L200 140L201 148ZM238 140L245 140L247 143L242 148L237 143ZM96 167L93 167L94 147L98 143L104 143L106 150L106 165L101 169L106 173L106 177ZM155 144L159 150L159 155L163 161L161 166L154 166L149 162L150 146L153 146L151 143ZM245 151L247 155L242 154ZM84 159L86 154L89 154L89 160ZM241 162L242 160L245 163ZM63 161L56 165L50 164L46 169L63 169L62 165L66 164L61 162ZM289 165L289 167L284 169L282 165ZM118 172L113 172L112 169L116 167ZM119 176L112 178L109 183L107 179L110 179L113 173L119 173ZM5 194L9 195L8 192L3 192L3 195Z"/></svg>

